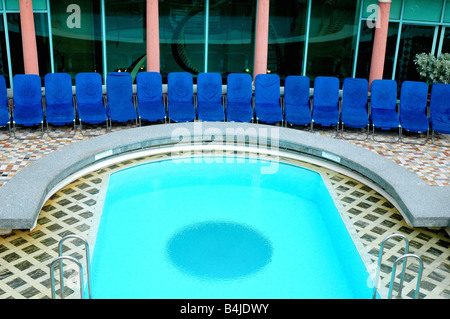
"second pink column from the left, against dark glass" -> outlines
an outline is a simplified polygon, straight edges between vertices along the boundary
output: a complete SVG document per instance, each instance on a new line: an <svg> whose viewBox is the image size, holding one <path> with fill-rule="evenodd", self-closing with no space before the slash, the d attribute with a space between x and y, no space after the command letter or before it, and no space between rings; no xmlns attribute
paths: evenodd
<svg viewBox="0 0 450 319"><path fill-rule="evenodd" d="M159 72L158 0L147 0L147 71Z"/></svg>

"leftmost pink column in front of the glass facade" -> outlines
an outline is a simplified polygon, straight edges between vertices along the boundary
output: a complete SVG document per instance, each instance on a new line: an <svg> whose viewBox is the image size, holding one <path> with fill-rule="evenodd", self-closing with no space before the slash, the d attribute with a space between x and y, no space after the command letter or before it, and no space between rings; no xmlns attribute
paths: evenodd
<svg viewBox="0 0 450 319"><path fill-rule="evenodd" d="M20 27L22 32L23 63L26 74L39 75L39 63L34 30L33 4L31 0L19 0Z"/></svg>

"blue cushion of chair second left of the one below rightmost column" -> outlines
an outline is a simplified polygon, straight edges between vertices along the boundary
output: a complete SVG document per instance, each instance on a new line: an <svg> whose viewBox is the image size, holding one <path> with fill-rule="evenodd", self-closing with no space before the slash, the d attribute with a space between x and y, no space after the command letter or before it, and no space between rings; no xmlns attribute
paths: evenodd
<svg viewBox="0 0 450 319"><path fill-rule="evenodd" d="M314 80L313 111L314 123L323 126L339 122L339 79L319 76Z"/></svg>

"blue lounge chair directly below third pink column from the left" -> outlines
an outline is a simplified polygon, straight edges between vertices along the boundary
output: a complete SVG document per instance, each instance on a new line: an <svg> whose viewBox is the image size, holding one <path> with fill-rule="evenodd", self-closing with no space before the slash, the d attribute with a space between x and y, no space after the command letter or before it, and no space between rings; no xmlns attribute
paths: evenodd
<svg viewBox="0 0 450 319"><path fill-rule="evenodd" d="M255 79L255 115L257 122L283 122L280 105L280 77L277 74L258 74Z"/></svg>

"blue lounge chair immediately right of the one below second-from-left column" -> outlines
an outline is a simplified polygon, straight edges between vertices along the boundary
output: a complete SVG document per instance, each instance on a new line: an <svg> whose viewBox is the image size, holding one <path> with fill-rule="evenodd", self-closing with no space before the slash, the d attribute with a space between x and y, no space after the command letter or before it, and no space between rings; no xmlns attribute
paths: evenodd
<svg viewBox="0 0 450 319"><path fill-rule="evenodd" d="M188 72L172 72L167 76L169 119L174 122L195 120L194 82Z"/></svg>

